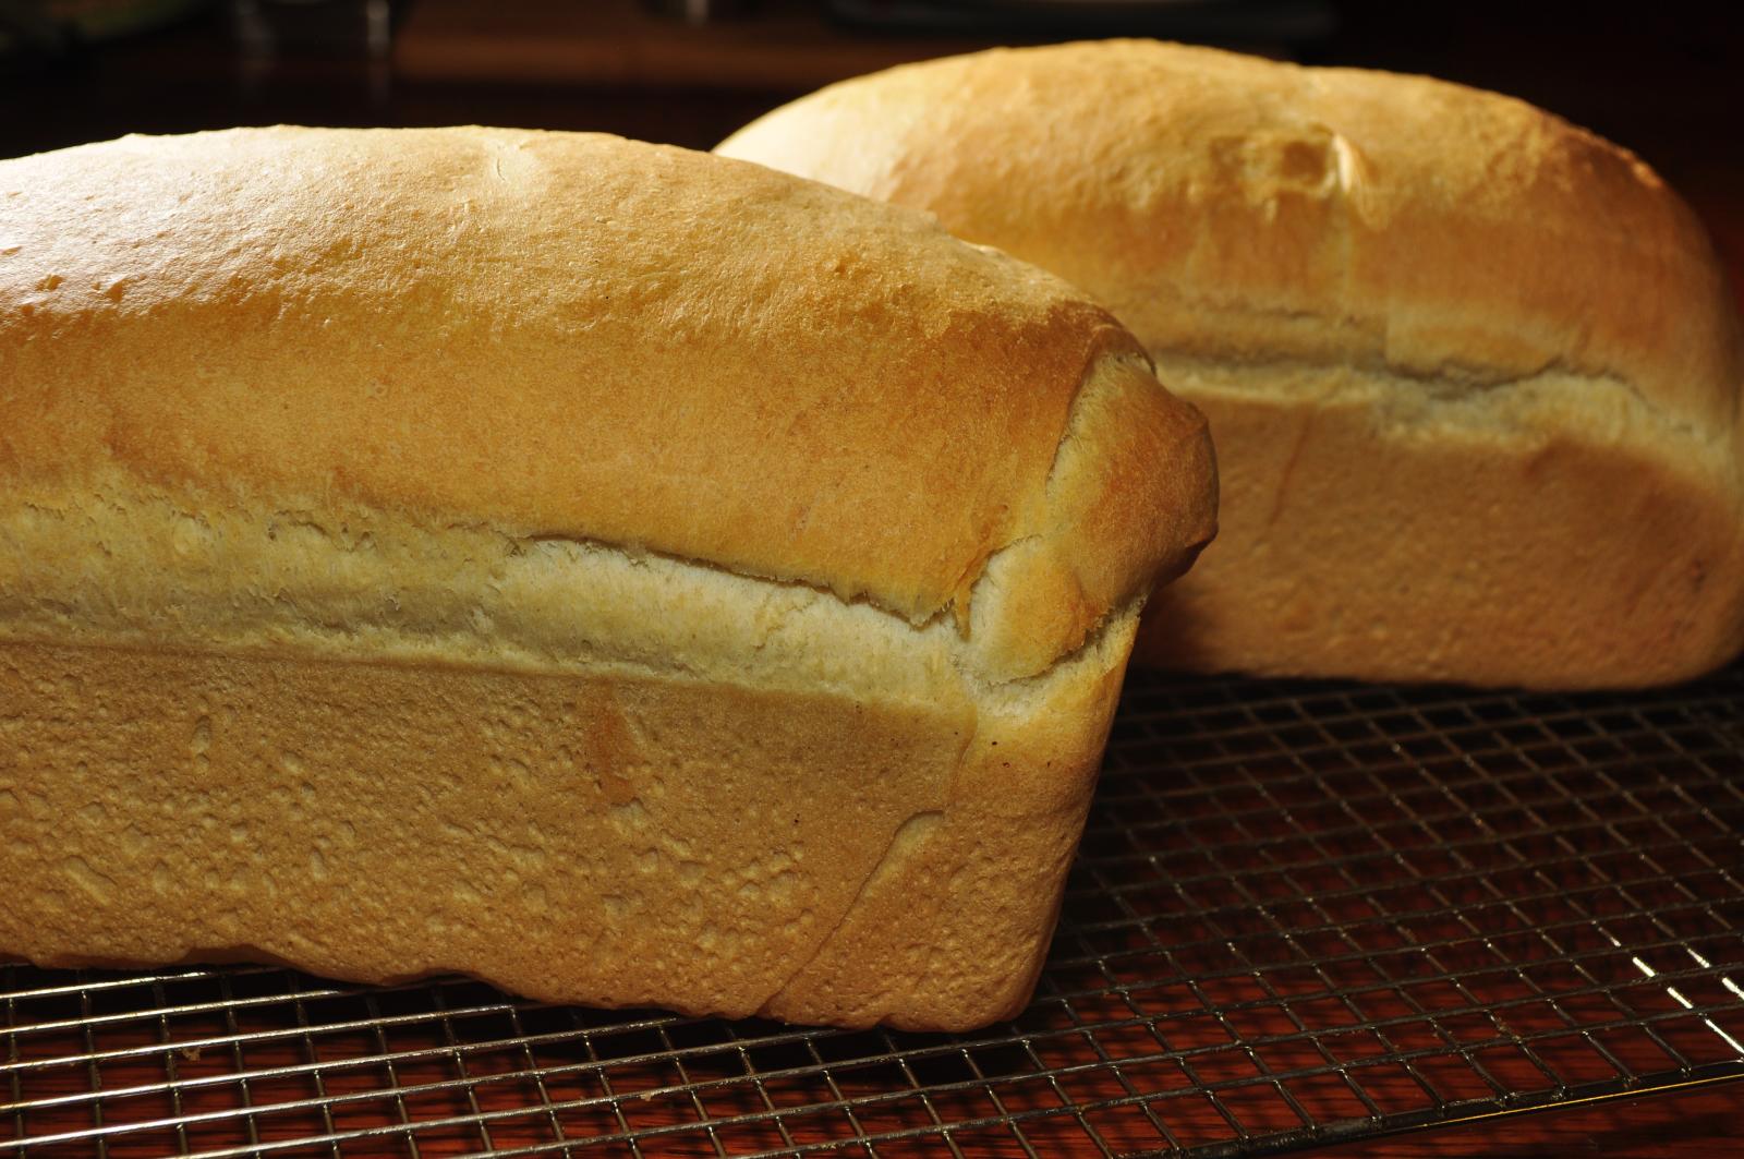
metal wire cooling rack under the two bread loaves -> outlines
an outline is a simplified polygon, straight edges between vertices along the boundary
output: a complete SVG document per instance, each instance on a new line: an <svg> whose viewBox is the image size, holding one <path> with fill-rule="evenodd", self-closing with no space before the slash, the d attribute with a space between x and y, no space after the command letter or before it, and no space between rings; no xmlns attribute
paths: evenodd
<svg viewBox="0 0 1744 1159"><path fill-rule="evenodd" d="M0 967L0 1154L1235 1156L1721 1082L1741 854L1744 669L1632 696L1135 674L1013 1023Z"/></svg>

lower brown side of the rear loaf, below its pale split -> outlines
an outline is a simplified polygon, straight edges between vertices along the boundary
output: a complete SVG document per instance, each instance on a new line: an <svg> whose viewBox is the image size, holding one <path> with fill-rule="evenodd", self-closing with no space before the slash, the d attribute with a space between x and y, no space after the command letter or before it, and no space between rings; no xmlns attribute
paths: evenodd
<svg viewBox="0 0 1744 1159"><path fill-rule="evenodd" d="M1679 436L1627 389L1543 379L1516 387L1500 424L1468 401L1400 407L1385 381L1298 375L1306 396L1216 389L1214 375L1184 387L1231 449L1224 524L1153 597L1135 658L1627 688L1700 676L1744 646L1730 459L1669 461Z"/></svg>

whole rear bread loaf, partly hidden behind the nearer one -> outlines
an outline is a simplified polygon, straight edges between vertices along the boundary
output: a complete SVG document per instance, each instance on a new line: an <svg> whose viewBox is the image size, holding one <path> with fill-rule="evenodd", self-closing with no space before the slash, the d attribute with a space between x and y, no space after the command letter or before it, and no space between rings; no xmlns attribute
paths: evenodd
<svg viewBox="0 0 1744 1159"><path fill-rule="evenodd" d="M1210 419L1141 658L1526 686L1744 644L1735 304L1636 157L1517 99L1155 42L931 61L719 152L1062 274Z"/></svg>

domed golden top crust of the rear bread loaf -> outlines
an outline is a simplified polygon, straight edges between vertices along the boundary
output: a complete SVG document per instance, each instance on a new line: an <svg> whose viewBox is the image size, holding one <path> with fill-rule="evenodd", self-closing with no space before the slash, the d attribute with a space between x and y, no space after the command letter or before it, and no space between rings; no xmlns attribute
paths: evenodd
<svg viewBox="0 0 1744 1159"><path fill-rule="evenodd" d="M928 208L1095 293L1153 353L1474 393L1615 379L1679 424L1737 426L1744 342L1693 215L1627 150L1507 96L1069 44L846 80L717 152Z"/></svg>

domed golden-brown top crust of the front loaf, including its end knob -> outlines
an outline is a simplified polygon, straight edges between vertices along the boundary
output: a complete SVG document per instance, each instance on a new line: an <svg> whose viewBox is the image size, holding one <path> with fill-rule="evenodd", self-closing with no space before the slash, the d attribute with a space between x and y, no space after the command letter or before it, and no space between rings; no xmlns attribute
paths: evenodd
<svg viewBox="0 0 1744 1159"><path fill-rule="evenodd" d="M1203 421L1055 278L759 166L476 127L0 162L0 489L117 487L799 583L1001 681L1214 504Z"/></svg>

